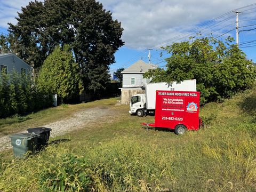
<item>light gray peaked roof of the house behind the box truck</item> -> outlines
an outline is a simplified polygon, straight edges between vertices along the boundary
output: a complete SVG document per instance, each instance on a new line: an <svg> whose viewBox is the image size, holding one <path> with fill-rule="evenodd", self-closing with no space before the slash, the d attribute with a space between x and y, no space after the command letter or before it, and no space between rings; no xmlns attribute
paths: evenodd
<svg viewBox="0 0 256 192"><path fill-rule="evenodd" d="M144 74L146 73L149 69L156 69L158 66L154 64L149 64L146 63L142 60L138 60L137 62L133 63L130 67L124 69L121 73L126 74L126 73L139 73L139 74Z"/></svg>

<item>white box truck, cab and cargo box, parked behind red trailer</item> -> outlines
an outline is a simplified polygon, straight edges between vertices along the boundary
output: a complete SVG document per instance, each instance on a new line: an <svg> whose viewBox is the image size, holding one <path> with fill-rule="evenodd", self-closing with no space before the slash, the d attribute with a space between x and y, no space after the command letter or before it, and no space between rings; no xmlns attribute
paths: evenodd
<svg viewBox="0 0 256 192"><path fill-rule="evenodd" d="M135 94L131 97L130 114L143 117L147 114L155 114L156 90L159 91L196 91L196 79L185 80L180 83L149 83L146 94Z"/></svg>

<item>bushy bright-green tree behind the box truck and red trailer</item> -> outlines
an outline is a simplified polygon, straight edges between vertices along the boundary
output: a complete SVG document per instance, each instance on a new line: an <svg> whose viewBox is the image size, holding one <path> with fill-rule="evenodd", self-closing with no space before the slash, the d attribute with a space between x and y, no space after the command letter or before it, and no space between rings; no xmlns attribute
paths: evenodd
<svg viewBox="0 0 256 192"><path fill-rule="evenodd" d="M153 82L196 79L201 104L231 97L251 87L256 77L252 62L237 45L230 44L232 41L233 38L227 38L223 43L205 37L173 43L163 48L171 54L165 59L167 69L149 70L144 77L153 77Z"/></svg>

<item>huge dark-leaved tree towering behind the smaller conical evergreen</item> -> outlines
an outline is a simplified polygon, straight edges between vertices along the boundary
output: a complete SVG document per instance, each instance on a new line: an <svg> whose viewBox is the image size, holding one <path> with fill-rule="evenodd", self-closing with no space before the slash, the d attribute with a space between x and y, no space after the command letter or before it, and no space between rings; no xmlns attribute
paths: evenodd
<svg viewBox="0 0 256 192"><path fill-rule="evenodd" d="M9 30L17 52L29 65L40 67L57 45L70 45L81 67L86 91L99 93L109 79L109 65L124 42L121 23L95 0L30 2Z"/></svg>

